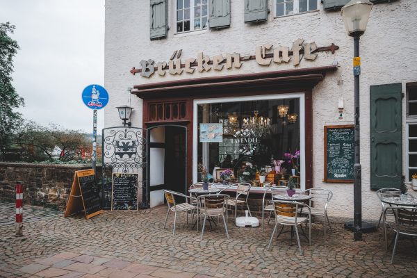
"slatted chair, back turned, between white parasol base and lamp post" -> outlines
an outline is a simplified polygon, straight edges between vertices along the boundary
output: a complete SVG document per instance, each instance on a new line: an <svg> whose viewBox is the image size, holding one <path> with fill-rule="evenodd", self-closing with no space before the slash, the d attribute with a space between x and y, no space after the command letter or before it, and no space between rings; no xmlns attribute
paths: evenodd
<svg viewBox="0 0 417 278"><path fill-rule="evenodd" d="M302 249L300 244L300 236L298 234L297 225L301 225L305 222L309 223L309 245L311 245L311 214L310 214L310 207L307 204L300 203L300 202L290 202L290 201L272 201L274 204L274 211L275 211L275 227L272 231L270 243L268 244L267 250L269 250L272 238L274 237L275 231L277 231L278 224L283 225L282 229L285 226L292 226L295 229L295 234L297 235L297 243L298 249L300 250L300 254L302 255ZM308 217L299 217L298 216L298 208L307 208L309 210ZM281 231L282 231L281 229ZM293 231L291 231L292 233ZM277 231L278 233L278 231ZM278 236L278 235L277 235Z"/></svg>

